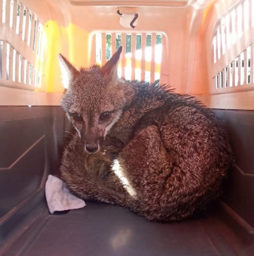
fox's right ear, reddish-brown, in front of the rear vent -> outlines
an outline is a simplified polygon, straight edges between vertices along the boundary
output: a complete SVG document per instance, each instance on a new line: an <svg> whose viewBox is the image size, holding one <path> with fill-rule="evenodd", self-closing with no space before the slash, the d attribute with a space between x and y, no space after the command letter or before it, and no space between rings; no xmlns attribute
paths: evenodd
<svg viewBox="0 0 254 256"><path fill-rule="evenodd" d="M120 46L111 59L101 68L102 73L108 80L117 79L117 63L123 47Z"/></svg>

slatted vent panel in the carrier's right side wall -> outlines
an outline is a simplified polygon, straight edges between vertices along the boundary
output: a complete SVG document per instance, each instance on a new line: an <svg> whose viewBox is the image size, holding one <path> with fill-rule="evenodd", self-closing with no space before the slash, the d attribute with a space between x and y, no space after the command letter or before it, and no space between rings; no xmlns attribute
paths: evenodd
<svg viewBox="0 0 254 256"><path fill-rule="evenodd" d="M212 37L212 65L216 70L213 81L216 89L236 92L254 83L253 27L254 0L239 2L221 18ZM249 46L242 49L248 43ZM232 59L227 62L229 58Z"/></svg>

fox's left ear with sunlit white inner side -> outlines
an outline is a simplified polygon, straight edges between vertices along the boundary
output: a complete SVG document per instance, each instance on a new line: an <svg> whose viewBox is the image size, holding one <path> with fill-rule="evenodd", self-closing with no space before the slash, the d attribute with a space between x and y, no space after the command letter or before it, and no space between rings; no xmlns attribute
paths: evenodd
<svg viewBox="0 0 254 256"><path fill-rule="evenodd" d="M58 55L59 65L62 73L62 82L65 89L67 89L79 74L79 71L71 65L71 63L62 55Z"/></svg>

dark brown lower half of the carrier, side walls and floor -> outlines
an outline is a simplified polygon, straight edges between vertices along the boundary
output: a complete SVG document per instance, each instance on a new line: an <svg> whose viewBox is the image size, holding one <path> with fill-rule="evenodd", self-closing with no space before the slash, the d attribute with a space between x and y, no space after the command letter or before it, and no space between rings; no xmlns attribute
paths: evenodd
<svg viewBox="0 0 254 256"><path fill-rule="evenodd" d="M58 170L57 147L68 130L64 113L60 107L1 107L0 167L12 167L0 171L0 255L253 256L254 111L215 113L233 139L237 167L224 202L237 221L214 211L203 219L152 223L116 205L88 202L50 215L44 187L47 173Z"/></svg>

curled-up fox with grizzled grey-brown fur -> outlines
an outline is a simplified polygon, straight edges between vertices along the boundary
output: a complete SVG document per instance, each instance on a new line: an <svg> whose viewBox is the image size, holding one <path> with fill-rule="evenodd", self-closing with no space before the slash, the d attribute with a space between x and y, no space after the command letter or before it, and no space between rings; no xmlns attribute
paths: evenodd
<svg viewBox="0 0 254 256"><path fill-rule="evenodd" d="M149 220L184 219L220 195L233 163L227 132L191 96L118 80L121 50L104 67L80 71L60 57L70 81L62 107L78 130L65 148L61 178L83 199L117 203ZM109 120L98 121L105 111ZM86 151L89 140L99 143L96 153Z"/></svg>

